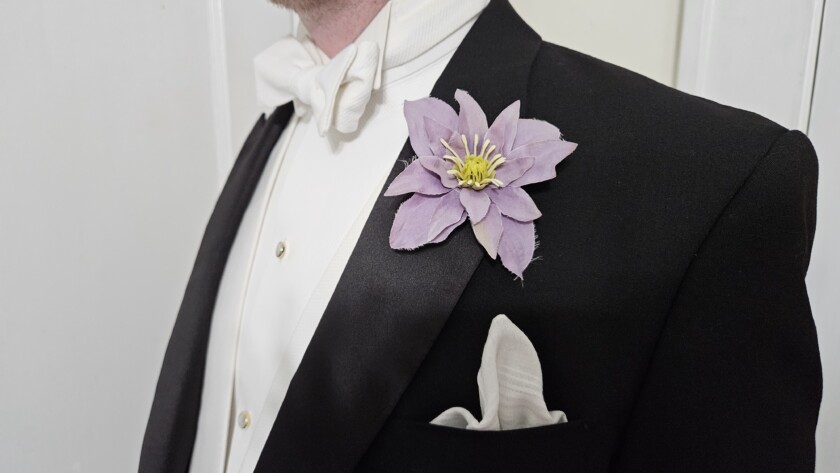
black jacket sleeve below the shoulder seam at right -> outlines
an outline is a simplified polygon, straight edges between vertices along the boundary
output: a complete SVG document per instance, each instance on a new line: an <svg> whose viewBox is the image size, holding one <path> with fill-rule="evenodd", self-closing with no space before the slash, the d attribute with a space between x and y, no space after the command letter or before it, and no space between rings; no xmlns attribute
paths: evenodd
<svg viewBox="0 0 840 473"><path fill-rule="evenodd" d="M805 273L817 159L782 135L686 271L616 471L813 472L822 375Z"/></svg>

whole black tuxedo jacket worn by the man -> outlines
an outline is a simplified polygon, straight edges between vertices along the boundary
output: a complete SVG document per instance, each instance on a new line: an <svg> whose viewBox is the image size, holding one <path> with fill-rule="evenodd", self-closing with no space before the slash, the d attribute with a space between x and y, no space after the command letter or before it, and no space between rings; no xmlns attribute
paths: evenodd
<svg viewBox="0 0 840 473"><path fill-rule="evenodd" d="M398 252L380 197L295 374L258 472L806 472L822 380L804 277L808 139L547 44L493 1L437 81L492 119L555 124L577 151L529 186L537 256L514 281L462 225ZM155 393L140 471L185 472L228 252L292 113L257 122L207 226ZM394 156L393 178L412 155ZM390 179L389 181L390 182ZM475 432L476 373L504 313L566 424Z"/></svg>

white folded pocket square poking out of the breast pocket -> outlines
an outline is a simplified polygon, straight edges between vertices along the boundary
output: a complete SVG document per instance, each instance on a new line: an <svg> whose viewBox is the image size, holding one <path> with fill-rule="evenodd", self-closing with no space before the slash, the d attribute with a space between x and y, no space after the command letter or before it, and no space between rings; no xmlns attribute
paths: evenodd
<svg viewBox="0 0 840 473"><path fill-rule="evenodd" d="M463 407L452 407L432 424L467 430L512 430L567 422L563 411L549 411L542 394L542 369L534 345L505 315L497 315L478 370L481 421Z"/></svg>

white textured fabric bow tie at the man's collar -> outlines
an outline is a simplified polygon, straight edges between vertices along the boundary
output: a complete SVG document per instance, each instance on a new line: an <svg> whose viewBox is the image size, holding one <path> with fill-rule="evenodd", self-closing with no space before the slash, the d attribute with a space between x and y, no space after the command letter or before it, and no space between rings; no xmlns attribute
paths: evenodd
<svg viewBox="0 0 840 473"><path fill-rule="evenodd" d="M321 136L331 127L352 133L378 86L379 54L377 43L360 41L317 64L298 39L284 38L254 60L257 98L270 108L293 100L298 115L311 110Z"/></svg>

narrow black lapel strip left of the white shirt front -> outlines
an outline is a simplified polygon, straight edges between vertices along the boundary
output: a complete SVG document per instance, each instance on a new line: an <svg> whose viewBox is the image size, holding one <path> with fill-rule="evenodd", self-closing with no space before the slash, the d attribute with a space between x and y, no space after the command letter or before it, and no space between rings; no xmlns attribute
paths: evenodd
<svg viewBox="0 0 840 473"><path fill-rule="evenodd" d="M287 104L268 119L260 118L210 216L164 356L140 454L141 473L184 473L189 467L219 283L242 216L292 111Z"/></svg>

